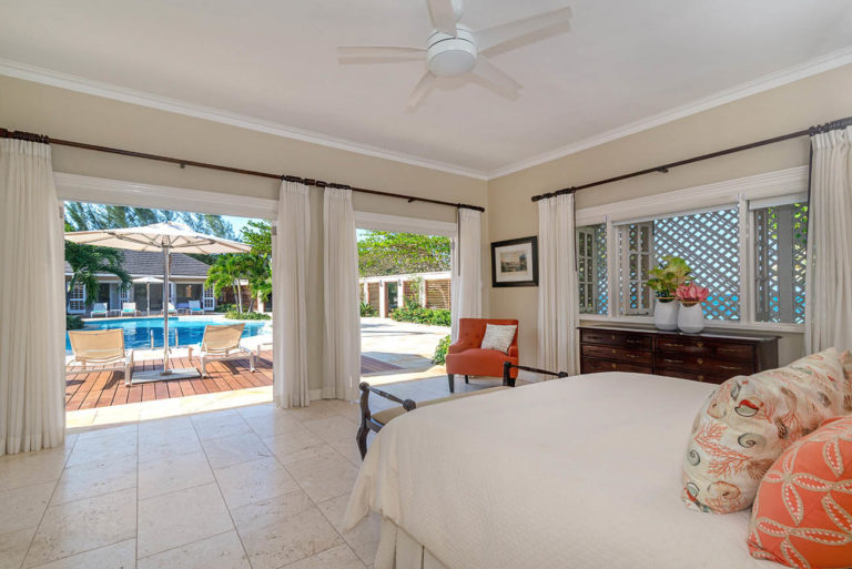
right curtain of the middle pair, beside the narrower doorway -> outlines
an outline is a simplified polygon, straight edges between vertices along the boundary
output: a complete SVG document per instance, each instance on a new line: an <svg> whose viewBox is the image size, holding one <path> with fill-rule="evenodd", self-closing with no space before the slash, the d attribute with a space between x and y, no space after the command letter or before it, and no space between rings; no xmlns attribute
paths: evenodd
<svg viewBox="0 0 852 569"><path fill-rule="evenodd" d="M361 380L361 313L352 191L326 187L324 213L323 398L354 400Z"/></svg>

